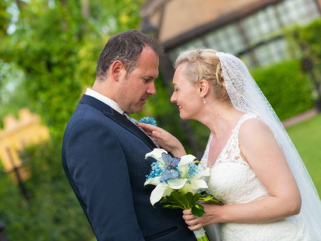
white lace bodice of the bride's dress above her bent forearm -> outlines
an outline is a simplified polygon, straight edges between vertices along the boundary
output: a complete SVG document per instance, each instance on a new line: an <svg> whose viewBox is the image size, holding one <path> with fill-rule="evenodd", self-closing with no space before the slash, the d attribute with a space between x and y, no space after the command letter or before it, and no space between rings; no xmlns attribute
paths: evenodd
<svg viewBox="0 0 321 241"><path fill-rule="evenodd" d="M239 148L240 126L247 119L255 117L253 114L245 114L241 117L212 167L211 178L208 180L209 192L224 204L249 202L268 196L268 192L249 164L241 157ZM208 150L206 155L208 157ZM202 159L202 164L206 167L207 157Z"/></svg>

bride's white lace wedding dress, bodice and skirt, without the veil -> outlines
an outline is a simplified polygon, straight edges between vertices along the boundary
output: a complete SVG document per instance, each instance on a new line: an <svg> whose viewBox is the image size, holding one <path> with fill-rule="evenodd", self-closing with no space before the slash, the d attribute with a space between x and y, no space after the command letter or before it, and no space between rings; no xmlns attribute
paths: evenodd
<svg viewBox="0 0 321 241"><path fill-rule="evenodd" d="M221 200L224 205L251 202L268 196L267 190L256 177L254 171L242 159L239 148L238 136L242 123L255 117L254 114L249 113L241 117L226 146L211 168L211 175L207 180L208 192ZM201 161L204 168L207 167L212 138L211 134ZM205 229L210 240L211 238L218 240L217 234L215 234L216 229L218 229L223 241L311 240L300 214L270 223L219 223L209 225Z"/></svg>

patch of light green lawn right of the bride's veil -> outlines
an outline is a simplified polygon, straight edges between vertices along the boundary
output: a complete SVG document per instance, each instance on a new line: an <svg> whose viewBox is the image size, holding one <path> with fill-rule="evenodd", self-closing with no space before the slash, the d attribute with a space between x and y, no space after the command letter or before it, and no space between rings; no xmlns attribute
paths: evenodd
<svg viewBox="0 0 321 241"><path fill-rule="evenodd" d="M286 129L321 194L321 114Z"/></svg>

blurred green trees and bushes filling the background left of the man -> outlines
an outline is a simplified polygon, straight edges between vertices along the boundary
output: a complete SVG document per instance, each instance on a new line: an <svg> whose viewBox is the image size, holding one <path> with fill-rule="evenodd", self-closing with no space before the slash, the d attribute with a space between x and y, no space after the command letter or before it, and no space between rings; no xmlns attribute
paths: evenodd
<svg viewBox="0 0 321 241"><path fill-rule="evenodd" d="M0 5L0 116L27 106L50 128L51 141L21 156L30 171L25 200L11 175L0 170L0 219L10 240L92 240L61 165L65 126L85 87L95 77L96 60L108 38L138 28L143 1L30 0ZM8 6L16 9L3 21ZM6 15L7 16L7 15ZM15 73L22 73L17 76ZM15 85L14 91L8 86Z"/></svg>

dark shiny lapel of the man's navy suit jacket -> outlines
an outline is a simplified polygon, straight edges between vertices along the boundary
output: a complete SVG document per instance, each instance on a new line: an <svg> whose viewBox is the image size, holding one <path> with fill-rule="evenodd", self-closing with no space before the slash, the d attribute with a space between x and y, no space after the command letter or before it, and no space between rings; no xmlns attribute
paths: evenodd
<svg viewBox="0 0 321 241"><path fill-rule="evenodd" d="M143 140L148 146L150 146L151 149L156 148L155 144L150 140L150 138L145 133L143 133L135 124L129 121L129 119L127 119L126 116L120 114L118 111L115 111L109 105L86 94L82 96L79 103L89 104L94 108L99 109L109 118L113 119L113 121L117 122L122 127L127 129L129 132L131 132L132 134L134 134L135 136Z"/></svg>

